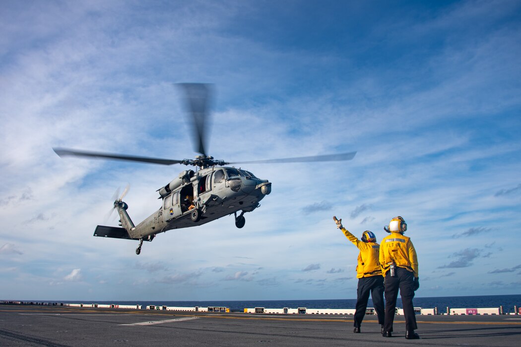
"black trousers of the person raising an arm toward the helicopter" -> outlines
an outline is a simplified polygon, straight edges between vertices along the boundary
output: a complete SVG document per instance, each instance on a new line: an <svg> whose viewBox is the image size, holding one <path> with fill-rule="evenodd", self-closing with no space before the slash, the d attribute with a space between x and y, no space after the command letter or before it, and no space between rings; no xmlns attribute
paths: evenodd
<svg viewBox="0 0 521 347"><path fill-rule="evenodd" d="M369 293L373 299L378 322L383 324L383 277L381 275L358 278L358 288L356 290L356 312L354 316L354 326L360 327L367 309Z"/></svg>

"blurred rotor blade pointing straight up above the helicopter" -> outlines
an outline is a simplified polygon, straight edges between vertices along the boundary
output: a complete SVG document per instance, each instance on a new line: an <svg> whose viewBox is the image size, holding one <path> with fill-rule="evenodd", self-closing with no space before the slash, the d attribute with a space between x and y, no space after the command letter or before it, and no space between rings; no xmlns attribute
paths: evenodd
<svg viewBox="0 0 521 347"><path fill-rule="evenodd" d="M178 83L178 85L184 91L186 111L192 116L194 150L206 157L210 85L205 83Z"/></svg>

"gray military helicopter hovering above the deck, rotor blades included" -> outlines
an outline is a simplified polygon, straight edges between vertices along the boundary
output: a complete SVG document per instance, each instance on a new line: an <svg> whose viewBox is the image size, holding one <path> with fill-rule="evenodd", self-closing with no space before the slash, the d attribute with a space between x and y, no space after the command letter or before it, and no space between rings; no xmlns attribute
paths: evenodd
<svg viewBox="0 0 521 347"><path fill-rule="evenodd" d="M185 95L185 106L190 114L193 127L195 151L200 153L194 159L161 159L122 155L117 153L94 152L53 147L59 157L75 156L82 158L125 160L152 164L184 164L195 170L184 170L168 184L156 191L162 204L159 209L138 225L134 225L127 213L128 204L122 199L128 186L120 197L114 197L113 210L119 214L119 227L98 225L94 236L138 240L136 254L141 253L143 241L152 241L159 233L171 229L188 228L212 222L227 215L234 215L235 226L245 224L244 213L252 212L271 192L267 179L256 177L251 171L227 166L250 163L296 163L312 161L351 160L356 151L333 155L294 157L284 159L226 162L215 160L206 152L207 108L210 99L210 85L205 83L178 83Z"/></svg>

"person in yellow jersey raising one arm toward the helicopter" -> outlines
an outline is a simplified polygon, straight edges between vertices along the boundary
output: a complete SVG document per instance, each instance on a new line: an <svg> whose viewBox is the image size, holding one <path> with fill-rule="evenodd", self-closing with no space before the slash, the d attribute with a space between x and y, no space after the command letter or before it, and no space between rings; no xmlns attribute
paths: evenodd
<svg viewBox="0 0 521 347"><path fill-rule="evenodd" d="M337 217L333 217L333 220L337 223L337 227L342 230L345 237L360 250L358 253L358 265L356 266L358 288L356 290L355 328L353 332L360 332L360 326L367 309L369 293L373 299L378 322L382 326L383 332L383 277L380 263L378 262L380 246L376 243L376 236L369 230L366 230L362 234L362 240L359 240L342 226L341 219L337 220Z"/></svg>

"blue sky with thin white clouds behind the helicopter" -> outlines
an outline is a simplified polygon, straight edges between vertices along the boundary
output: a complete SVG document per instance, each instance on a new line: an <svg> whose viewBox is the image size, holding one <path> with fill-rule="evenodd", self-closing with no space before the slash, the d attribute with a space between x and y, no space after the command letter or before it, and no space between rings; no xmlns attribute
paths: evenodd
<svg viewBox="0 0 521 347"><path fill-rule="evenodd" d="M0 299L356 298L356 248L401 215L419 297L521 290L516 1L6 1L0 13ZM184 170L52 147L184 159L178 82L213 83L217 159L261 207L137 242L92 236L111 197L135 223ZM35 290L35 288L37 290Z"/></svg>

